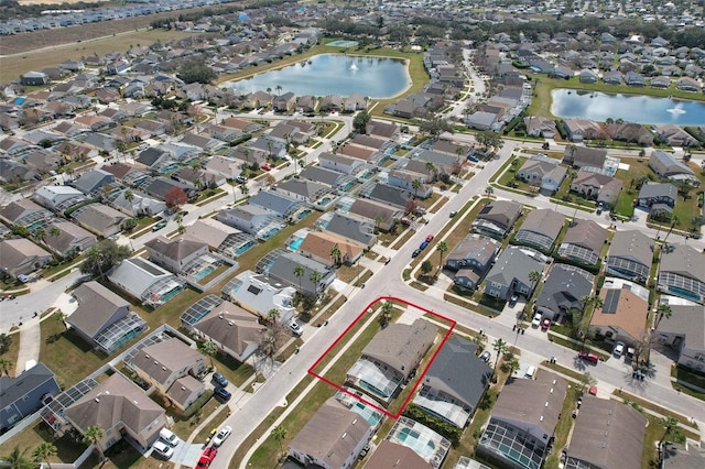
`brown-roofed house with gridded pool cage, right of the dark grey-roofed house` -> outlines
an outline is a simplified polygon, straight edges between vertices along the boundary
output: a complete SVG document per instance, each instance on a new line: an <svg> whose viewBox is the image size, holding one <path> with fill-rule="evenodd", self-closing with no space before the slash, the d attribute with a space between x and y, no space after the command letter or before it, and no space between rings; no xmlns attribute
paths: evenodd
<svg viewBox="0 0 705 469"><path fill-rule="evenodd" d="M477 451L503 467L542 467L567 388L563 378L545 370L535 380L508 381L492 407Z"/></svg>

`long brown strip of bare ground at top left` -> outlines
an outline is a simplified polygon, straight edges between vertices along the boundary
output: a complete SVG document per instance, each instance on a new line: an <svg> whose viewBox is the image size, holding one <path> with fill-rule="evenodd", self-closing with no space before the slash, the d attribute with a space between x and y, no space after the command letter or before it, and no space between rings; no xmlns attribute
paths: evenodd
<svg viewBox="0 0 705 469"><path fill-rule="evenodd" d="M111 36L113 34L148 28L150 23L160 18L178 18L181 13L188 13L199 9L169 11L164 13L149 14L145 17L128 18L124 20L102 21L100 23L84 24L80 26L61 28L57 30L42 30L32 33L0 36L0 51L2 55L28 53L43 47L52 47L61 44L85 42L97 37ZM93 52L91 52L93 54ZM3 68L6 58L3 57Z"/></svg>

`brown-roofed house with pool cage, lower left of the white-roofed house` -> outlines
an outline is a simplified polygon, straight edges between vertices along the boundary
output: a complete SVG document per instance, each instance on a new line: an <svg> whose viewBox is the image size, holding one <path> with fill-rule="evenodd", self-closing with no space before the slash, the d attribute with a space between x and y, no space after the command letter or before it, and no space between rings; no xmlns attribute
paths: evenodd
<svg viewBox="0 0 705 469"><path fill-rule="evenodd" d="M98 282L83 283L73 292L78 307L66 325L82 339L110 355L148 328L130 304Z"/></svg>

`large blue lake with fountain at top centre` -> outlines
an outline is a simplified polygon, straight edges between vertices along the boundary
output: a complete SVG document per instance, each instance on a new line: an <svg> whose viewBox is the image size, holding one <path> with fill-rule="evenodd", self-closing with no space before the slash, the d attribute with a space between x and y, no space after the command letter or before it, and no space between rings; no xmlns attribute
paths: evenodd
<svg viewBox="0 0 705 469"><path fill-rule="evenodd" d="M369 98L390 98L410 85L404 61L322 54L251 78L229 81L226 86L242 94L271 88L272 92L292 91L296 96L358 92Z"/></svg>

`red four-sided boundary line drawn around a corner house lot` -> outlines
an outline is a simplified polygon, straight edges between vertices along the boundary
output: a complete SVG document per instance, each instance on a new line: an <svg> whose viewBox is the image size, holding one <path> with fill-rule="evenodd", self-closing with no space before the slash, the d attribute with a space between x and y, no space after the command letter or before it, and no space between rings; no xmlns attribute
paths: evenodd
<svg viewBox="0 0 705 469"><path fill-rule="evenodd" d="M448 328L448 331L445 334L445 336L443 336L443 339L441 340L441 345L438 346L438 348L436 349L436 351L433 353L433 357L431 357L431 360L429 361L429 363L426 364L426 367L423 369L423 372L419 375L419 378L416 379L415 383L414 383L414 388L411 390L411 392L409 393L409 395L406 396L406 399L404 400L404 402L402 403L400 410L398 413L392 414L389 411L387 411L383 407L380 407L376 402L370 402L355 393L351 393L350 391L346 390L345 388L343 388L340 384L334 383L333 381L328 380L327 378L316 373L315 371L313 371L318 363L321 363L321 361L323 361L323 359L330 352L330 350L333 350L333 348L335 346L338 345L338 342L340 340L343 340L343 338L350 331L350 329L362 318L362 316L365 316L365 314L369 310L369 308L371 308L375 304L381 302L382 299L384 301L394 301L398 303L402 303L404 305L408 306L412 306L416 309L421 309L424 313L427 313L432 316L436 316L440 319L445 320L446 323L451 324L451 327ZM402 414L402 412L404 412L404 408L406 408L406 405L409 405L409 402L411 401L411 399L413 397L413 395L416 393L416 389L419 389L419 385L421 384L423 378L425 377L426 372L429 371L429 369L431 368L431 366L433 364L433 362L435 361L436 357L438 356L438 352L441 352L441 349L443 348L443 346L445 345L446 340L448 340L448 337L451 337L451 334L453 332L453 329L455 329L455 326L457 325L457 321L447 318L445 316L442 316L431 309L424 308L422 306L415 305L413 303L410 303L405 299L402 298L398 298L395 296L380 296L373 301L371 301L365 308L362 308L362 310L360 312L360 314L355 318L355 320L352 323L350 323L350 325L338 336L337 339L335 339L335 341L330 345L330 347L328 347L328 349L323 352L323 355L321 357L318 357L318 359L311 366L311 368L308 369L308 374L319 379L321 381L323 381L324 383L335 388L336 390L344 392L346 394L348 394L349 396L373 407L375 410L381 412L382 414L387 415L388 417L391 418L399 418Z"/></svg>

